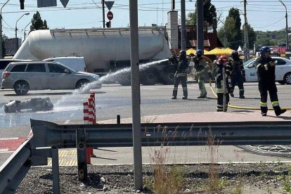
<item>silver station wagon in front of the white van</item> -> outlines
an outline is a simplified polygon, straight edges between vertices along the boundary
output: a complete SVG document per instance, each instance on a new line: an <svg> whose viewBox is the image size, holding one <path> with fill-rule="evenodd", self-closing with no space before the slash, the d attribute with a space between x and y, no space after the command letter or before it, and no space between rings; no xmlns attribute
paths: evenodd
<svg viewBox="0 0 291 194"><path fill-rule="evenodd" d="M31 61L9 63L2 75L1 89L14 89L18 95L30 90L79 89L94 82L100 89L100 77L89 72L76 72L58 62Z"/></svg>

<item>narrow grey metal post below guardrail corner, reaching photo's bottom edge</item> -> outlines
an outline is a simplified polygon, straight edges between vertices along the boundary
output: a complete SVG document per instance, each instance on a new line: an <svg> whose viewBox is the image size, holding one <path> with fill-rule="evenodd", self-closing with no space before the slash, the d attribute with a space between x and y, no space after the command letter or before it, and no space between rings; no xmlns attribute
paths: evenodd
<svg viewBox="0 0 291 194"><path fill-rule="evenodd" d="M58 146L51 146L51 165L53 169L53 194L60 193L60 171L58 166Z"/></svg>

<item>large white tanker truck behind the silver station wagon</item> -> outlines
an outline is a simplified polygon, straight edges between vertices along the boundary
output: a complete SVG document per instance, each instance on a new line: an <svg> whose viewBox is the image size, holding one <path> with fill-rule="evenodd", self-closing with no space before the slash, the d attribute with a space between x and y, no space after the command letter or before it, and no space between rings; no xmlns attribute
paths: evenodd
<svg viewBox="0 0 291 194"><path fill-rule="evenodd" d="M140 63L172 58L164 29L139 28ZM88 72L106 75L130 66L129 28L36 30L13 58L44 60L57 56L84 56ZM170 60L150 65L141 72L141 84L173 84L175 67ZM119 77L120 84L130 84L130 72Z"/></svg>

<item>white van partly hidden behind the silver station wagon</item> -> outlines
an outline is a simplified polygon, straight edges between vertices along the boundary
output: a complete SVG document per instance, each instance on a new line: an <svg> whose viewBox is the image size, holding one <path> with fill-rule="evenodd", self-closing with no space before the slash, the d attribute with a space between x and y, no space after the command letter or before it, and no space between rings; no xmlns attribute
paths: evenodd
<svg viewBox="0 0 291 194"><path fill-rule="evenodd" d="M67 67L70 67L72 70L78 72L87 72L84 57L79 56L51 57L44 59L44 61L56 61L58 63L62 63Z"/></svg>

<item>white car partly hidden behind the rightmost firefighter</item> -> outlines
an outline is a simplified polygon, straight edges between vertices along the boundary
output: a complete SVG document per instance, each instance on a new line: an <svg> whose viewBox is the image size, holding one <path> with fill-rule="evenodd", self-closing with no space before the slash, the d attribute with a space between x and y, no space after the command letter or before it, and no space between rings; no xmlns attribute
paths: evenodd
<svg viewBox="0 0 291 194"><path fill-rule="evenodd" d="M282 57L272 57L276 64L276 81L280 84L291 84L291 60ZM250 62L249 62L250 61ZM246 82L258 82L255 59L244 63Z"/></svg>

